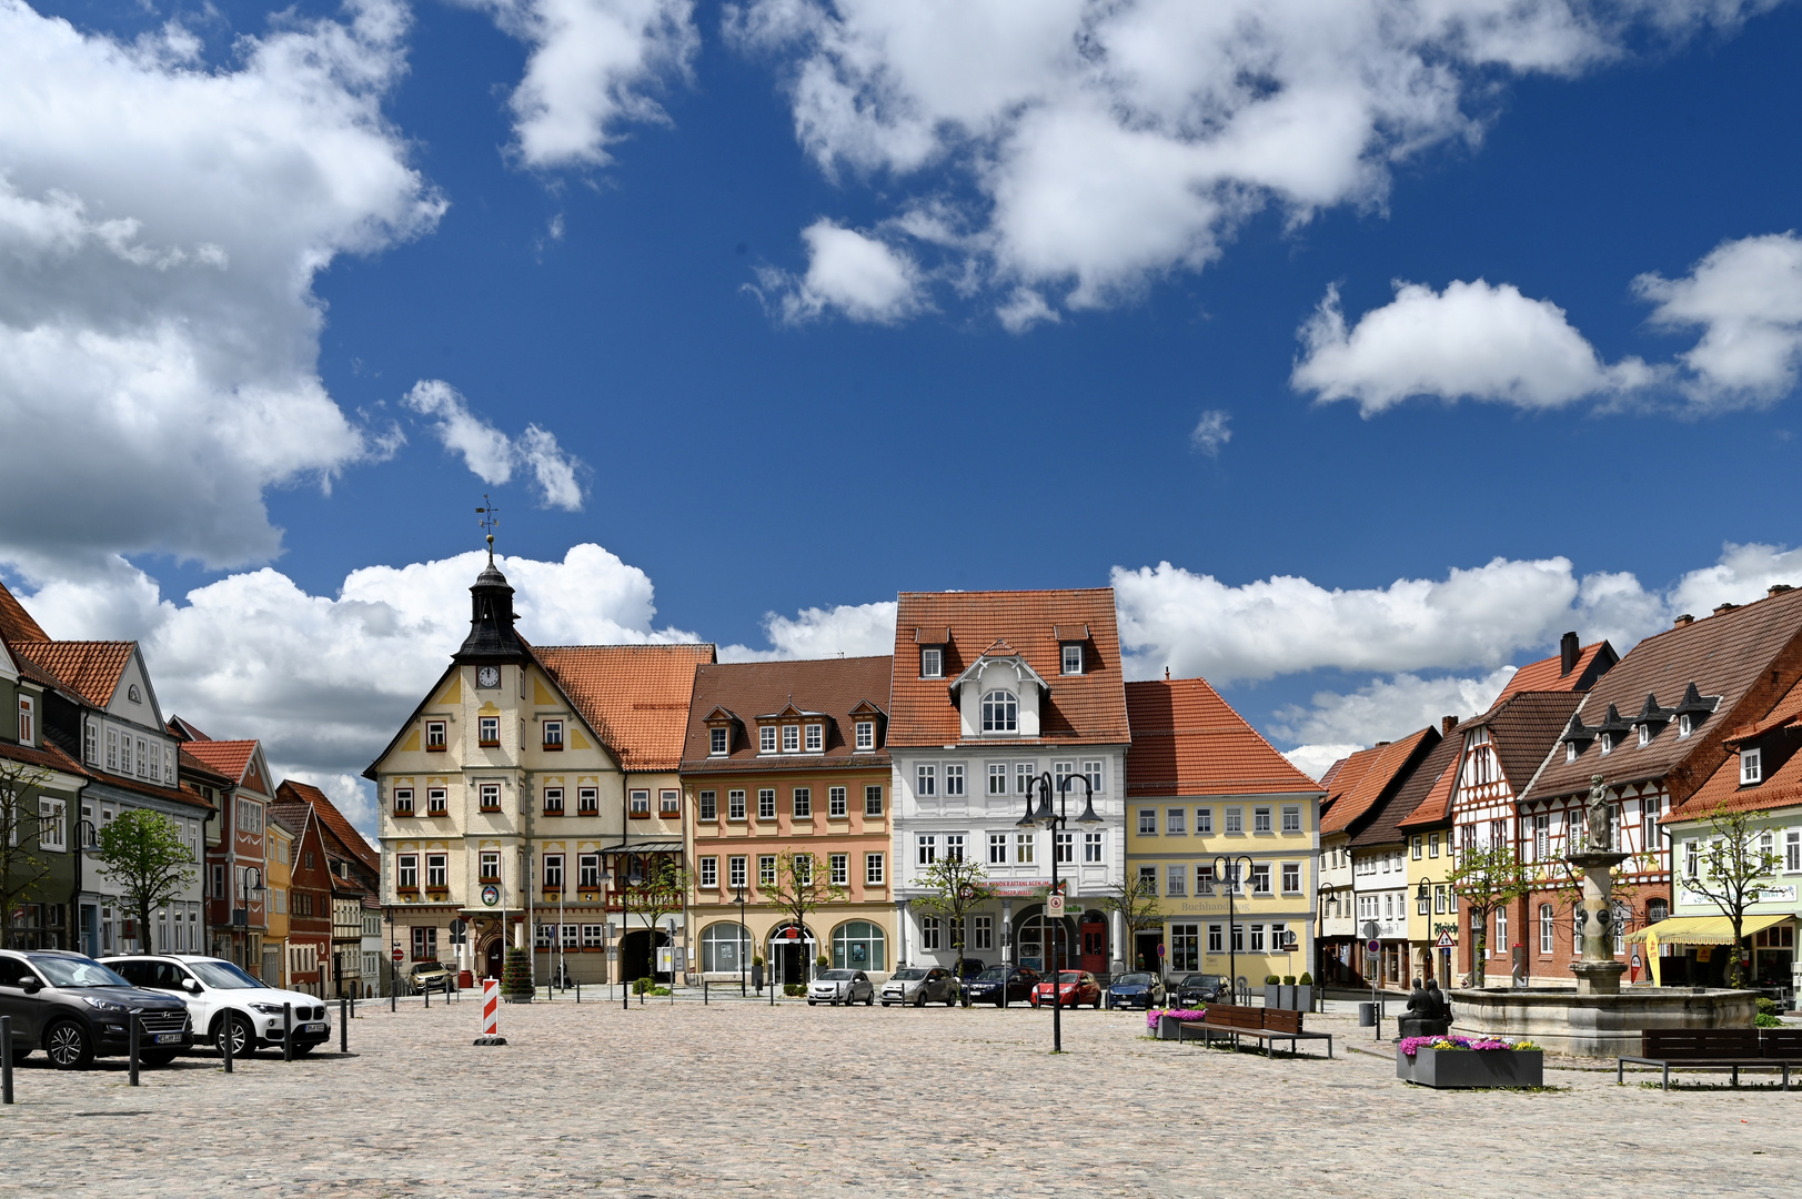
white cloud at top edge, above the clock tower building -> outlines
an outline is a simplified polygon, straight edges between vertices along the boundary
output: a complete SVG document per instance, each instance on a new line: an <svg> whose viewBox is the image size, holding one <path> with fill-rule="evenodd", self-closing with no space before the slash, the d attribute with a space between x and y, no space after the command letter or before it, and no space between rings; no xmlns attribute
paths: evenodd
<svg viewBox="0 0 1802 1199"><path fill-rule="evenodd" d="M510 106L519 157L533 168L605 166L622 124L669 119L651 92L687 76L701 45L692 0L465 2L532 47Z"/></svg>

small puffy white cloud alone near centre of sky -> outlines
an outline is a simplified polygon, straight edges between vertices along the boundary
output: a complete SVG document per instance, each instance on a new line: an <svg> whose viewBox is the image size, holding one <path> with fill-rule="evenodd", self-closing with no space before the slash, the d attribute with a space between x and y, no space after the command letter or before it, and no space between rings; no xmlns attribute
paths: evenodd
<svg viewBox="0 0 1802 1199"><path fill-rule="evenodd" d="M802 240L805 276L760 272L764 288L780 297L784 321L800 325L836 310L852 321L890 325L919 308L919 267L901 251L825 218L807 225Z"/></svg>

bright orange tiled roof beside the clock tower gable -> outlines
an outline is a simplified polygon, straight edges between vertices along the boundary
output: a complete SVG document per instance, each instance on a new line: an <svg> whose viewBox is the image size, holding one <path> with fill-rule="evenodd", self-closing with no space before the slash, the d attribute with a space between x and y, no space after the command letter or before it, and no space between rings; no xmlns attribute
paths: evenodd
<svg viewBox="0 0 1802 1199"><path fill-rule="evenodd" d="M681 645L537 645L532 654L605 741L622 770L676 770L694 671L717 662L708 642Z"/></svg>

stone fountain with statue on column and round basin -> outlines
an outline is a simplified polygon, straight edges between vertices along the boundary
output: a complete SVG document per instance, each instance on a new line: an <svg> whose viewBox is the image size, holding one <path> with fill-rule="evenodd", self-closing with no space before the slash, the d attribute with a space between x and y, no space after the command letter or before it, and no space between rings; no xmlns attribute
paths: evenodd
<svg viewBox="0 0 1802 1199"><path fill-rule="evenodd" d="M1553 1053L1618 1057L1640 1051L1647 1028L1752 1028L1757 993L1705 986L1629 986L1615 961L1613 869L1629 855L1611 847L1613 802L1602 775L1589 779L1586 837L1566 860L1582 871L1577 921L1582 961L1571 963L1575 990L1510 986L1456 990L1452 1031L1465 1037L1532 1039Z"/></svg>

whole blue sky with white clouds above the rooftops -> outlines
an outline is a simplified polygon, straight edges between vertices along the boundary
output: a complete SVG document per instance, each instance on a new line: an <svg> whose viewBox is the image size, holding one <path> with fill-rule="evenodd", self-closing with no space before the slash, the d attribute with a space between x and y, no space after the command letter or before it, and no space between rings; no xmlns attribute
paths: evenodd
<svg viewBox="0 0 1802 1199"><path fill-rule="evenodd" d="M373 824L537 644L1114 586L1319 773L1802 584L1802 5L0 0L0 579Z"/></svg>

